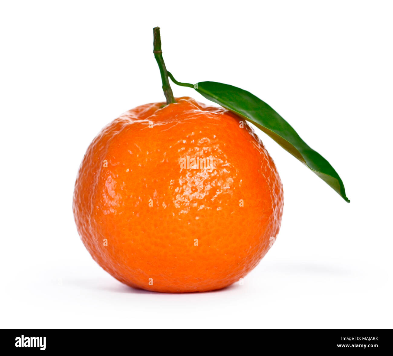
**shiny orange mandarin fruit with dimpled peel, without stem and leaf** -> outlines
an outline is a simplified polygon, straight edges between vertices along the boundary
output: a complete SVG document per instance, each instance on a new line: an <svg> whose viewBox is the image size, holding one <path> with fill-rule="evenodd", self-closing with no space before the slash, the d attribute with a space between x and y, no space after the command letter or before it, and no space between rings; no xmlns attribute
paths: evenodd
<svg viewBox="0 0 393 356"><path fill-rule="evenodd" d="M282 184L243 119L187 97L163 104L127 111L90 144L73 196L77 229L94 260L131 287L224 288L277 236ZM209 169L182 167L187 156L209 158Z"/></svg>

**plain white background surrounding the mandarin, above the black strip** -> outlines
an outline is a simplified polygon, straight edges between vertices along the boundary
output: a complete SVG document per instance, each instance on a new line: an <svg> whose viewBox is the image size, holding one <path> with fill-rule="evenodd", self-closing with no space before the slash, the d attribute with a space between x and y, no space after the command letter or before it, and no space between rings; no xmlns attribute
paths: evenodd
<svg viewBox="0 0 393 356"><path fill-rule="evenodd" d="M387 1L2 2L0 327L391 328L392 12ZM133 290L77 234L73 184L88 144L124 111L164 99L155 26L176 79L262 98L351 199L259 132L284 216L243 286Z"/></svg>

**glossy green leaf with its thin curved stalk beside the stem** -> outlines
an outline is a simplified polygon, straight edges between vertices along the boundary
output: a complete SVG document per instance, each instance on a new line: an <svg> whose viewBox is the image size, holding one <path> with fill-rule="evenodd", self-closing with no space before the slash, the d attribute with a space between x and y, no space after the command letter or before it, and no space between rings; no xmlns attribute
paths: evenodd
<svg viewBox="0 0 393 356"><path fill-rule="evenodd" d="M270 136L282 148L304 163L312 172L331 186L345 201L344 184L331 166L318 152L308 146L274 109L250 92L232 85L214 81L202 81L197 84L180 83L169 73L172 81L178 85L194 88L205 98L225 107L233 113L255 124Z"/></svg>

